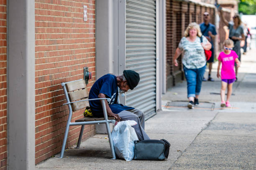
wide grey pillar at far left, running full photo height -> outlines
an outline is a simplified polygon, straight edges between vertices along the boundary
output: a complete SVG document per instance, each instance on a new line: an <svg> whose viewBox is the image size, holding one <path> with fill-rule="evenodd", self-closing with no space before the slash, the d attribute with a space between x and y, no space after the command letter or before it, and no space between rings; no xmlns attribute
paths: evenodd
<svg viewBox="0 0 256 170"><path fill-rule="evenodd" d="M7 1L8 170L35 169L35 3Z"/></svg>

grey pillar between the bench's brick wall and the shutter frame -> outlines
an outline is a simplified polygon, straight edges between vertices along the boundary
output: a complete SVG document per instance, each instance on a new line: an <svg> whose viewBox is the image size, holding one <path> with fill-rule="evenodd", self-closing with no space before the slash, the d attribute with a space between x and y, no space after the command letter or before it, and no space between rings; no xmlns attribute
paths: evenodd
<svg viewBox="0 0 256 170"><path fill-rule="evenodd" d="M114 73L113 0L96 0L96 78Z"/></svg>

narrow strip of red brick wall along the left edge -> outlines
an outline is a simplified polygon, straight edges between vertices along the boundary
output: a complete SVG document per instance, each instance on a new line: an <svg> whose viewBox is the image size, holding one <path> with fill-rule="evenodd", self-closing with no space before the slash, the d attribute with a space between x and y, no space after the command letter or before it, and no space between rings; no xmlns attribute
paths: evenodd
<svg viewBox="0 0 256 170"><path fill-rule="evenodd" d="M0 0L0 170L7 167L6 0Z"/></svg>

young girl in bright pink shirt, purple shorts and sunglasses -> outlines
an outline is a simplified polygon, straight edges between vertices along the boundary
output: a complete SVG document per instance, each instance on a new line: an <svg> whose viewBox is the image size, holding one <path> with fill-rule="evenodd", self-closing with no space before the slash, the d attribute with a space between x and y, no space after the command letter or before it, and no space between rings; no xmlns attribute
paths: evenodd
<svg viewBox="0 0 256 170"><path fill-rule="evenodd" d="M238 55L235 51L233 51L233 41L227 39L224 41L224 51L220 52L218 57L219 64L217 70L217 77L220 77L220 64L221 67L221 90L220 90L220 98L221 98L221 107L231 107L229 99L232 94L232 85L236 80L236 73L234 71L234 65L236 62L237 67L240 67L240 62L238 60ZM228 87L227 92L227 100L225 102L225 90Z"/></svg>

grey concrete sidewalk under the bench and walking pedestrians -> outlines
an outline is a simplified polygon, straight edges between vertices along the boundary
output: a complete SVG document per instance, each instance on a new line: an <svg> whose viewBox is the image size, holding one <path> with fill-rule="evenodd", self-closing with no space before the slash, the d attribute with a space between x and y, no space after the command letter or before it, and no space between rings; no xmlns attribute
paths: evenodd
<svg viewBox="0 0 256 170"><path fill-rule="evenodd" d="M203 82L201 103L195 109L189 110L182 105L187 102L185 81L163 95L163 110L146 121L145 129L151 139L164 138L171 143L167 160L110 160L107 135L95 135L82 142L79 149L66 150L64 158L58 158L58 154L36 165L36 169L256 169L255 53L256 50L250 50L242 56L238 82L233 85L231 108L220 108L218 63L212 70L215 82ZM178 105L172 106L173 101ZM215 104L212 111L210 107L204 107L209 102Z"/></svg>

